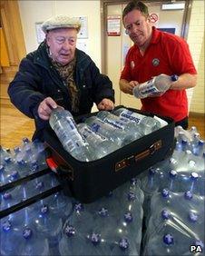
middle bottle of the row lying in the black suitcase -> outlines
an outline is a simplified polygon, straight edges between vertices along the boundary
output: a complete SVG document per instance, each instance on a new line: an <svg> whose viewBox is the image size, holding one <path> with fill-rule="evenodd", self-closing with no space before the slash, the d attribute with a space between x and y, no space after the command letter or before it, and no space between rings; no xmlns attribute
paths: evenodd
<svg viewBox="0 0 205 256"><path fill-rule="evenodd" d="M85 119L84 123L88 124L94 133L100 133L103 136L109 138L117 146L122 147L128 143L132 143L132 136L125 133L121 129L113 127L109 123L104 123L101 119L96 116L91 116Z"/></svg>

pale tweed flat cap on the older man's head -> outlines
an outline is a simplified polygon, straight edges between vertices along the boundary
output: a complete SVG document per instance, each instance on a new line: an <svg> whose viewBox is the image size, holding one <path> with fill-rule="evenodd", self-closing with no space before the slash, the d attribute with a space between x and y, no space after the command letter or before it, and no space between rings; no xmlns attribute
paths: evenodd
<svg viewBox="0 0 205 256"><path fill-rule="evenodd" d="M42 30L47 33L50 30L56 28L75 28L78 32L81 28L81 23L78 18L69 17L66 15L54 16L46 21L42 25Z"/></svg>

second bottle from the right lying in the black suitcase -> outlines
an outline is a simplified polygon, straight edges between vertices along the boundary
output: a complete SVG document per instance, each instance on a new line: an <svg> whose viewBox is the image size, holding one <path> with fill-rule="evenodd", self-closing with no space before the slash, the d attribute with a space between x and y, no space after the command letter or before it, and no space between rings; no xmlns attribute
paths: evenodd
<svg viewBox="0 0 205 256"><path fill-rule="evenodd" d="M108 111L100 111L99 113L97 113L97 117L102 119L104 123L109 123L112 126L117 127L118 129L122 129L126 133L133 134L133 140L137 140L143 135L142 127L130 122L124 117L117 116Z"/></svg>

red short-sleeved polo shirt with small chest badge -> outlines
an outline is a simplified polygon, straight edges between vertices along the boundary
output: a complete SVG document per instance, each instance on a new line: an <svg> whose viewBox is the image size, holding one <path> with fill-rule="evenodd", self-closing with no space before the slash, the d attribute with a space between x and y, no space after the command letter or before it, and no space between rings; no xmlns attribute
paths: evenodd
<svg viewBox="0 0 205 256"><path fill-rule="evenodd" d="M121 79L140 84L158 74L197 74L189 45L181 37L152 28L151 44L142 54L133 45L125 60ZM172 117L175 122L188 116L188 101L185 90L168 90L160 97L142 99L142 110Z"/></svg>

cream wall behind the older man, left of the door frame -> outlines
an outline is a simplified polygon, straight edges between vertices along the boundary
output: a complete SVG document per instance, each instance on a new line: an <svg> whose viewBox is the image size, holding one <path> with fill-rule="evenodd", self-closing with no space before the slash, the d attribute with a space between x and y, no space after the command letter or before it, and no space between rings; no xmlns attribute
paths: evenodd
<svg viewBox="0 0 205 256"><path fill-rule="evenodd" d="M37 46L35 23L42 23L53 15L70 15L88 18L88 38L78 39L87 44L89 54L101 69L101 14L100 0L90 1L24 1L19 0L19 11L24 32L26 53Z"/></svg>

